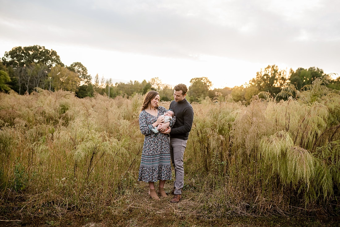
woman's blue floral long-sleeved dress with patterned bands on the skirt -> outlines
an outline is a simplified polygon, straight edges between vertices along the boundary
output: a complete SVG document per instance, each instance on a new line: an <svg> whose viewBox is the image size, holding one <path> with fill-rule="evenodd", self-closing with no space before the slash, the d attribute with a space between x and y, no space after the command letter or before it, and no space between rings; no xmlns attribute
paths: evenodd
<svg viewBox="0 0 340 227"><path fill-rule="evenodd" d="M138 181L156 182L158 180L171 180L170 142L167 134L151 131L153 123L164 114L166 109L158 107L157 116L142 110L139 114L139 128L145 135L142 157L140 160ZM175 124L176 117L170 120L170 127Z"/></svg>

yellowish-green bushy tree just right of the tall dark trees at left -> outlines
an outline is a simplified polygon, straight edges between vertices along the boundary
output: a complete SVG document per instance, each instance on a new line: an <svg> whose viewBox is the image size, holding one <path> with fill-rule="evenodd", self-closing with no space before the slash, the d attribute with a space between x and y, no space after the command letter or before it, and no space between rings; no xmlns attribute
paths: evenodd
<svg viewBox="0 0 340 227"><path fill-rule="evenodd" d="M78 74L61 65L54 66L49 73L49 77L52 78L52 86L55 91L62 89L76 92L78 90L80 83Z"/></svg>

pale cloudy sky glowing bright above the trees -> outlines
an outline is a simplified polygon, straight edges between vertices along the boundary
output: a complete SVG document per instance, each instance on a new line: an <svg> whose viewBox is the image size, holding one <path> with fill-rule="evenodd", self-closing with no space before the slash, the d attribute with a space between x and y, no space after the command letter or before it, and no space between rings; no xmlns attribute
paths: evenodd
<svg viewBox="0 0 340 227"><path fill-rule="evenodd" d="M92 78L233 87L272 64L340 73L339 13L336 0L0 0L0 56L39 45Z"/></svg>

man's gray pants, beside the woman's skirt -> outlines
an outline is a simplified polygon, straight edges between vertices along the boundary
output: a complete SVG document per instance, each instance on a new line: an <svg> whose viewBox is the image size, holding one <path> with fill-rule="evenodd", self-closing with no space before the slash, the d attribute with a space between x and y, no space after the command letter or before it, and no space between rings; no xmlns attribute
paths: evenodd
<svg viewBox="0 0 340 227"><path fill-rule="evenodd" d="M187 146L188 140L181 140L176 138L170 137L170 156L171 162L175 168L175 182L174 187L175 191L174 194L181 195L182 188L184 187L184 163L183 163L183 156L184 150Z"/></svg>

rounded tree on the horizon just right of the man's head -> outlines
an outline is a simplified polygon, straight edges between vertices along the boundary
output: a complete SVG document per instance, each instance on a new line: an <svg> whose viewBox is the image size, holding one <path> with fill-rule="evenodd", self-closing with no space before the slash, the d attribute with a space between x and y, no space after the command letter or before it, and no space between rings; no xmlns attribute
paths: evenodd
<svg viewBox="0 0 340 227"><path fill-rule="evenodd" d="M212 83L207 77L195 77L190 80L188 89L188 99L191 102L200 102L205 97L209 96L209 89Z"/></svg>

